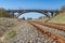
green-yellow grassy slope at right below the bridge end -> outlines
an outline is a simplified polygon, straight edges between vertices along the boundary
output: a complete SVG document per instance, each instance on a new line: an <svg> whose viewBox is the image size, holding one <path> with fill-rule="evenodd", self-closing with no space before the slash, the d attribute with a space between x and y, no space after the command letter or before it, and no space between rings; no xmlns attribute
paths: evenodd
<svg viewBox="0 0 65 43"><path fill-rule="evenodd" d="M48 23L65 24L65 13L61 13L61 14L56 15L54 18L52 18Z"/></svg>

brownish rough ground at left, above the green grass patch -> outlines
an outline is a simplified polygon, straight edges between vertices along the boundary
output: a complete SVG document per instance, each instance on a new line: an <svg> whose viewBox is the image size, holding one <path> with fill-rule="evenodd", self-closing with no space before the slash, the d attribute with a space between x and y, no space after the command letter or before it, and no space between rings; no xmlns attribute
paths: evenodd
<svg viewBox="0 0 65 43"><path fill-rule="evenodd" d="M0 18L0 37L4 34L5 31L11 30L20 24L17 19L14 18Z"/></svg>

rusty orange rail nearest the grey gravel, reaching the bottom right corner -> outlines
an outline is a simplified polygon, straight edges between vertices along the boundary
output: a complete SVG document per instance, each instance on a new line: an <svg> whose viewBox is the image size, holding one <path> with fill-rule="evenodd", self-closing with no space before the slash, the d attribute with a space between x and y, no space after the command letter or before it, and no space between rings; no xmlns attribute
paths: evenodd
<svg viewBox="0 0 65 43"><path fill-rule="evenodd" d="M36 27L37 30L39 30L40 32L46 33L48 37L51 37L54 41L57 41L58 43L65 43L65 39L63 39L62 37L57 37L56 34L51 33L50 31L47 31L42 27L40 27L39 25L43 25L42 23L30 20L29 24L31 24L34 27ZM44 24L44 26L52 27L47 24ZM53 27L53 28L55 28L55 27ZM58 30L62 30L62 29L60 28Z"/></svg>

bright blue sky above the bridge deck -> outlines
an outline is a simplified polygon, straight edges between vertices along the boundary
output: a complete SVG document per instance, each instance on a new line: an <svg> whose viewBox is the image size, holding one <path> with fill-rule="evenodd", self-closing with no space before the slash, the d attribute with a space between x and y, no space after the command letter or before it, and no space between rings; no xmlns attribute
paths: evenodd
<svg viewBox="0 0 65 43"><path fill-rule="evenodd" d="M11 10L12 9L41 9L41 10L52 9L54 10L54 9L60 9L62 5L65 5L65 0L0 0L0 8L6 9L6 10L9 9Z"/></svg>

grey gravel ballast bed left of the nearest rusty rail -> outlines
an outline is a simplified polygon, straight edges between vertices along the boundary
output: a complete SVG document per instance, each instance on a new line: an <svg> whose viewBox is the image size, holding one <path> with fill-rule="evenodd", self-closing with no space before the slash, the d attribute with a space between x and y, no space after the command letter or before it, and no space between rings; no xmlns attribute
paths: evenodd
<svg viewBox="0 0 65 43"><path fill-rule="evenodd" d="M26 22L23 22L23 24L16 28L16 37L6 40L4 43L57 43Z"/></svg>

